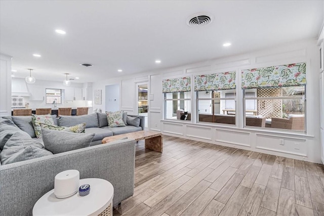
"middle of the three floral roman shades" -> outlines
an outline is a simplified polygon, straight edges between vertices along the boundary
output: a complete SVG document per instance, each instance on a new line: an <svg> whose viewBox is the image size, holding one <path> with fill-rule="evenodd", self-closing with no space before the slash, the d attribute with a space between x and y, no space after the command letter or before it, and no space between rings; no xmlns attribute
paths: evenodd
<svg viewBox="0 0 324 216"><path fill-rule="evenodd" d="M194 91L235 89L236 71L198 75L194 77Z"/></svg>

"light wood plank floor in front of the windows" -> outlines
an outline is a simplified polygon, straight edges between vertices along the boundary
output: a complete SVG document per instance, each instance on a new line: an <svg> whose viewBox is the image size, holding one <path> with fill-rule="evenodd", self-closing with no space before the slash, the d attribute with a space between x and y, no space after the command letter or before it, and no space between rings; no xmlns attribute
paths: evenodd
<svg viewBox="0 0 324 216"><path fill-rule="evenodd" d="M324 166L164 136L136 147L134 196L113 215L324 215Z"/></svg>

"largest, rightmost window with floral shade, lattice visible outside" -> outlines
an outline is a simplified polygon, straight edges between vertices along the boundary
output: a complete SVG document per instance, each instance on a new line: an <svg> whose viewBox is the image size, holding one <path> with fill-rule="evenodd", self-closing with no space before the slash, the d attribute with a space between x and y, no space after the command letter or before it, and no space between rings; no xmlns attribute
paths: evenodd
<svg viewBox="0 0 324 216"><path fill-rule="evenodd" d="M306 131L305 74L306 63L243 70L245 125Z"/></svg>

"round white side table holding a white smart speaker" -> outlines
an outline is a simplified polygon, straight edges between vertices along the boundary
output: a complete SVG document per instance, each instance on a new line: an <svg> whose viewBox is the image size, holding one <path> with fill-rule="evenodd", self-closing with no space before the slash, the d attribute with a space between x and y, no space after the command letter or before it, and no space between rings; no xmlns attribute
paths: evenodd
<svg viewBox="0 0 324 216"><path fill-rule="evenodd" d="M103 179L80 179L80 185L90 185L90 193L58 199L54 189L35 203L32 214L37 215L112 215L113 186Z"/></svg>

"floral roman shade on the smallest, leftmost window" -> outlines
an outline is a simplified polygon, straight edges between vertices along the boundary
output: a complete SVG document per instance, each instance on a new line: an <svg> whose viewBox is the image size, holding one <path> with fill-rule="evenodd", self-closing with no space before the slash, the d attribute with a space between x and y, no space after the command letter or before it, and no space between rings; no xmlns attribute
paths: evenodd
<svg viewBox="0 0 324 216"><path fill-rule="evenodd" d="M190 92L191 91L191 77L181 77L174 79L164 79L162 81L163 93L169 92Z"/></svg>

